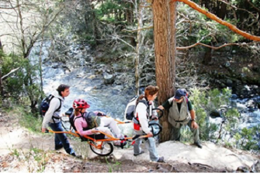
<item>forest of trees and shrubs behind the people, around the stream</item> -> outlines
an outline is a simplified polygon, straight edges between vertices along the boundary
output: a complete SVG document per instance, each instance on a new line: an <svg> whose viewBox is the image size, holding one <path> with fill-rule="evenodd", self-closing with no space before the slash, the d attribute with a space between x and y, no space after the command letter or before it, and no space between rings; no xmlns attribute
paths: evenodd
<svg viewBox="0 0 260 174"><path fill-rule="evenodd" d="M86 62L111 66L119 62L118 67L101 73L130 74L120 79L127 83L124 90L134 88L138 94L148 84L159 86L158 105L173 96L176 88L187 88L201 140L259 151L259 126L240 130L240 112L223 105L230 105L234 94L238 98L259 95L260 2L183 2L0 1L1 112L16 109L25 118L24 126L40 130L38 107L46 95L42 65L77 62L79 58L70 55L70 46L87 45L94 56ZM192 3L236 28L207 18L187 5ZM234 32L237 29L243 31L242 35ZM43 60L46 43L48 58ZM112 79L106 85L116 85L116 81ZM256 109L259 100L253 104ZM221 126L209 121L212 113L223 117ZM167 114L160 121L161 142L171 140ZM183 141L191 139L188 131L183 130L183 135ZM223 138L227 135L228 139Z"/></svg>

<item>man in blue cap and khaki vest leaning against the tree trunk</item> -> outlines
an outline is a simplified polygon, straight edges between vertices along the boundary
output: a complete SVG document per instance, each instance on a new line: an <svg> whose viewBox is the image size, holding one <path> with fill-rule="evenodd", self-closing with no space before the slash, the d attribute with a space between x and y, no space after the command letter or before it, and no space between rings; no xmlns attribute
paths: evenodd
<svg viewBox="0 0 260 174"><path fill-rule="evenodd" d="M169 98L160 105L160 109L169 109L168 121L174 128L174 140L181 139L181 127L188 125L193 132L194 144L202 148L199 138L199 126L195 121L195 110L193 105L186 96L185 89L178 89L174 97Z"/></svg>

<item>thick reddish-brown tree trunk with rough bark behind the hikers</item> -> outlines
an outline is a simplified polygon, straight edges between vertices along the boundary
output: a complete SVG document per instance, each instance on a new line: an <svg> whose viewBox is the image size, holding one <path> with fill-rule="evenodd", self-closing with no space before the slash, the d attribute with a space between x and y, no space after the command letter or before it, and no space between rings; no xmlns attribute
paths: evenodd
<svg viewBox="0 0 260 174"><path fill-rule="evenodd" d="M175 56L176 56L176 1L155 0L152 4L155 39L155 74L160 88L159 105L174 95ZM168 112L160 119L162 133L160 142L173 140L172 126L168 121Z"/></svg>

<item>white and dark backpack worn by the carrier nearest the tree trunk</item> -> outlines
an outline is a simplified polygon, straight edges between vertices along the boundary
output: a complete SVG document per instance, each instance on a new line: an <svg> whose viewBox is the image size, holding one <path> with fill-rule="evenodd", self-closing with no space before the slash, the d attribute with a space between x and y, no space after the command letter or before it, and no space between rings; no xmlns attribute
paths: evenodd
<svg viewBox="0 0 260 174"><path fill-rule="evenodd" d="M136 106L138 105L139 102L143 102L143 104L145 104L146 107L148 107L148 103L145 102L144 100L139 100L139 102L136 103L137 99L138 99L138 96L136 95L126 105L126 109L125 109L125 112L124 112L125 119L128 119L128 120L134 119L134 112L135 112Z"/></svg>

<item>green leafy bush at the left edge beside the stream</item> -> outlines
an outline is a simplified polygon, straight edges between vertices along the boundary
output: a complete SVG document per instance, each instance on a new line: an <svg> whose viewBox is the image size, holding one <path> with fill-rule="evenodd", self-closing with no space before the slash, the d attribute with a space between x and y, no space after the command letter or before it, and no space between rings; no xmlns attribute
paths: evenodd
<svg viewBox="0 0 260 174"><path fill-rule="evenodd" d="M25 104L25 98L29 96L30 102L38 101L41 94L39 85L36 83L38 77L38 65L32 65L29 59L22 58L15 54L1 55L2 75L10 73L13 69L18 69L10 74L4 83L4 91L15 99L18 105ZM14 88L15 86L15 88ZM11 99L11 100L13 100ZM30 102L27 102L30 105Z"/></svg>

